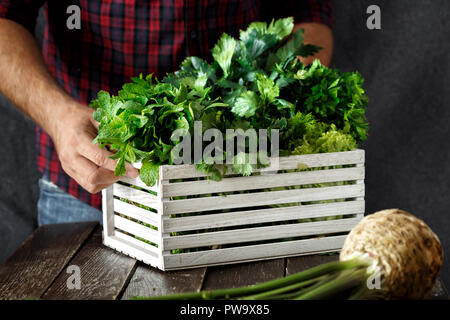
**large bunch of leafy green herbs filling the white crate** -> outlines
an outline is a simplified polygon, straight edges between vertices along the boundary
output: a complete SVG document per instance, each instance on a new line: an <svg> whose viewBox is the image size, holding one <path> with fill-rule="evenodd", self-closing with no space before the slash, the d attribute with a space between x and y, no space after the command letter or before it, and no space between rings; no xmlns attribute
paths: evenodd
<svg viewBox="0 0 450 320"><path fill-rule="evenodd" d="M304 44L304 31L292 32L293 27L292 18L254 22L239 39L223 34L210 63L188 57L162 80L141 75L117 96L100 91L91 103L100 122L94 143L115 152L116 175L125 173L125 161L142 162L141 179L155 184L159 165L173 163L171 151L179 143L171 139L174 130L193 133L194 121L202 122L203 131L217 128L224 136L228 128L279 129L281 155L356 148L369 127L364 79L318 60L303 65L297 57L320 48ZM197 168L221 177L217 166ZM232 169L252 173L251 165Z"/></svg>

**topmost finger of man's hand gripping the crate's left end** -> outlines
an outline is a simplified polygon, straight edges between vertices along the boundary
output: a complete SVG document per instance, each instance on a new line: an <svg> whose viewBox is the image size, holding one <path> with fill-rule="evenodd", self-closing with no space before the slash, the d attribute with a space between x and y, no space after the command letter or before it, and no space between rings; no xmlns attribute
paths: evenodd
<svg viewBox="0 0 450 320"><path fill-rule="evenodd" d="M82 156L86 157L99 167L114 171L116 168L117 160L113 160L110 156L113 155L105 149L101 149L99 146L92 144L90 139L85 137L79 144L79 152ZM129 163L125 165L126 175L130 178L136 178L139 176L139 171L131 166Z"/></svg>

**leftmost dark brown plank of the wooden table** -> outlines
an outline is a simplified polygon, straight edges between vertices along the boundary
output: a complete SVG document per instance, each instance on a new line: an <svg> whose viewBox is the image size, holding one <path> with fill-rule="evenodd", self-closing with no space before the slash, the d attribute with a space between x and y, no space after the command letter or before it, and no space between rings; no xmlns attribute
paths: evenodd
<svg viewBox="0 0 450 320"><path fill-rule="evenodd" d="M0 266L0 299L40 298L97 222L42 226Z"/></svg>

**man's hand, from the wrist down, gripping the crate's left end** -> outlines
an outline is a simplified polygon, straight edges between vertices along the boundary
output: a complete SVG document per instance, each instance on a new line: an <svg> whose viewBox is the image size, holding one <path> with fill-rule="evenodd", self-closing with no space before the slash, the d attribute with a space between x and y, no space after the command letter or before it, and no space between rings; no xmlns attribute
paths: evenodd
<svg viewBox="0 0 450 320"><path fill-rule="evenodd" d="M90 193L97 193L116 182L114 174L117 160L111 152L94 145L98 123L89 107L73 104L66 106L61 116L56 116L53 132L49 132L56 147L64 171ZM56 115L58 113L55 113ZM136 178L139 171L129 163L126 175Z"/></svg>

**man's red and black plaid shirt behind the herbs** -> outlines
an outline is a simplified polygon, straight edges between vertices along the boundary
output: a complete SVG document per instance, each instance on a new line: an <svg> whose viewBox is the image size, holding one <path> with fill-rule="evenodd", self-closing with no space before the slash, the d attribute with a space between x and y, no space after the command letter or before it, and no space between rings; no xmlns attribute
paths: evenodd
<svg viewBox="0 0 450 320"><path fill-rule="evenodd" d="M81 9L81 29L69 30L67 8ZM77 101L88 104L99 90L117 93L131 76L172 72L190 55L208 58L218 37L237 36L252 21L293 16L331 27L329 1L321 0L0 0L0 17L33 31L44 5L42 54L51 74ZM62 190L100 208L61 168L50 137L36 128L38 167Z"/></svg>

